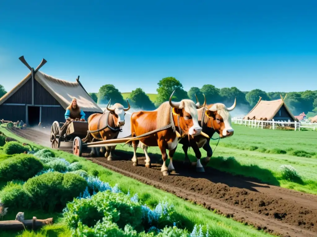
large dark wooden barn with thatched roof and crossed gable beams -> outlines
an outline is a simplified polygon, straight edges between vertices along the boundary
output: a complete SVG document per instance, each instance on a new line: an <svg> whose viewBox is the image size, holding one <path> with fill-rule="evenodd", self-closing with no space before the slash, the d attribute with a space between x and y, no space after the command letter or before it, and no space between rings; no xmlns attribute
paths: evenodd
<svg viewBox="0 0 317 237"><path fill-rule="evenodd" d="M45 59L35 70L23 56L19 59L31 72L0 98L0 119L23 120L29 126L40 122L52 124L55 120L64 122L66 108L74 97L85 112L86 120L92 113L103 112L82 86L79 76L75 82L64 81L39 71Z"/></svg>

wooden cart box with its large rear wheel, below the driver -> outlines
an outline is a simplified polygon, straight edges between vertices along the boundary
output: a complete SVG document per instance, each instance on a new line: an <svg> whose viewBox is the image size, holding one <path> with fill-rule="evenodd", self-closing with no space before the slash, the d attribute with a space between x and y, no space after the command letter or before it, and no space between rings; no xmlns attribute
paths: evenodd
<svg viewBox="0 0 317 237"><path fill-rule="evenodd" d="M61 126L60 126L61 125ZM88 122L72 121L59 123L54 121L51 127L51 148L58 149L61 142L73 142L75 137L87 136Z"/></svg>

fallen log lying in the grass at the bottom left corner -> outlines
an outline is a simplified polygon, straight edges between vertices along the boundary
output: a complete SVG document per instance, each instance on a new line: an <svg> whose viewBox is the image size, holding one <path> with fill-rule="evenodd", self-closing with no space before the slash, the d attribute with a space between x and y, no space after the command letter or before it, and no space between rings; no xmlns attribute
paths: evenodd
<svg viewBox="0 0 317 237"><path fill-rule="evenodd" d="M0 221L0 230L24 230L26 229L37 229L45 225L53 224L53 218L48 218L44 220L38 220L33 216L32 220L19 221ZM24 226L23 226L24 225Z"/></svg>

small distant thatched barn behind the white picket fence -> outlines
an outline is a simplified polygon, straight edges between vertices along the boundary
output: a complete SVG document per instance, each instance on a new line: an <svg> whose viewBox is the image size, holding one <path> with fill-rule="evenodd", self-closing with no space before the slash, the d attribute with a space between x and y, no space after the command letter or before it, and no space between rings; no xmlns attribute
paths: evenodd
<svg viewBox="0 0 317 237"><path fill-rule="evenodd" d="M286 94L287 95L287 94ZM286 106L283 99L279 100L262 100L260 97L256 106L243 118L243 119L256 119L256 120L267 120L270 121L274 119L274 121L288 121L291 122L296 121L296 118L292 114L292 112Z"/></svg>

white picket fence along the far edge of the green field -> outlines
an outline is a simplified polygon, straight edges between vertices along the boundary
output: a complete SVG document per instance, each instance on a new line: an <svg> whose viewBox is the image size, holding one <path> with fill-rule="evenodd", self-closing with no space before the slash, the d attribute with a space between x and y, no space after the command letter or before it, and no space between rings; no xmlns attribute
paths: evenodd
<svg viewBox="0 0 317 237"><path fill-rule="evenodd" d="M301 128L310 128L315 131L317 129L317 124L316 123L300 123L300 122L291 122L290 120L288 121L275 121L272 119L272 121L263 121L263 120L248 120L248 119L236 119L233 118L232 122L235 124L240 124L244 126L249 126L251 128L262 128L263 129L263 124L272 124L272 129L275 129L276 125L280 125L282 127L288 126L290 127L291 125L294 125L294 131L298 130L301 131Z"/></svg>

